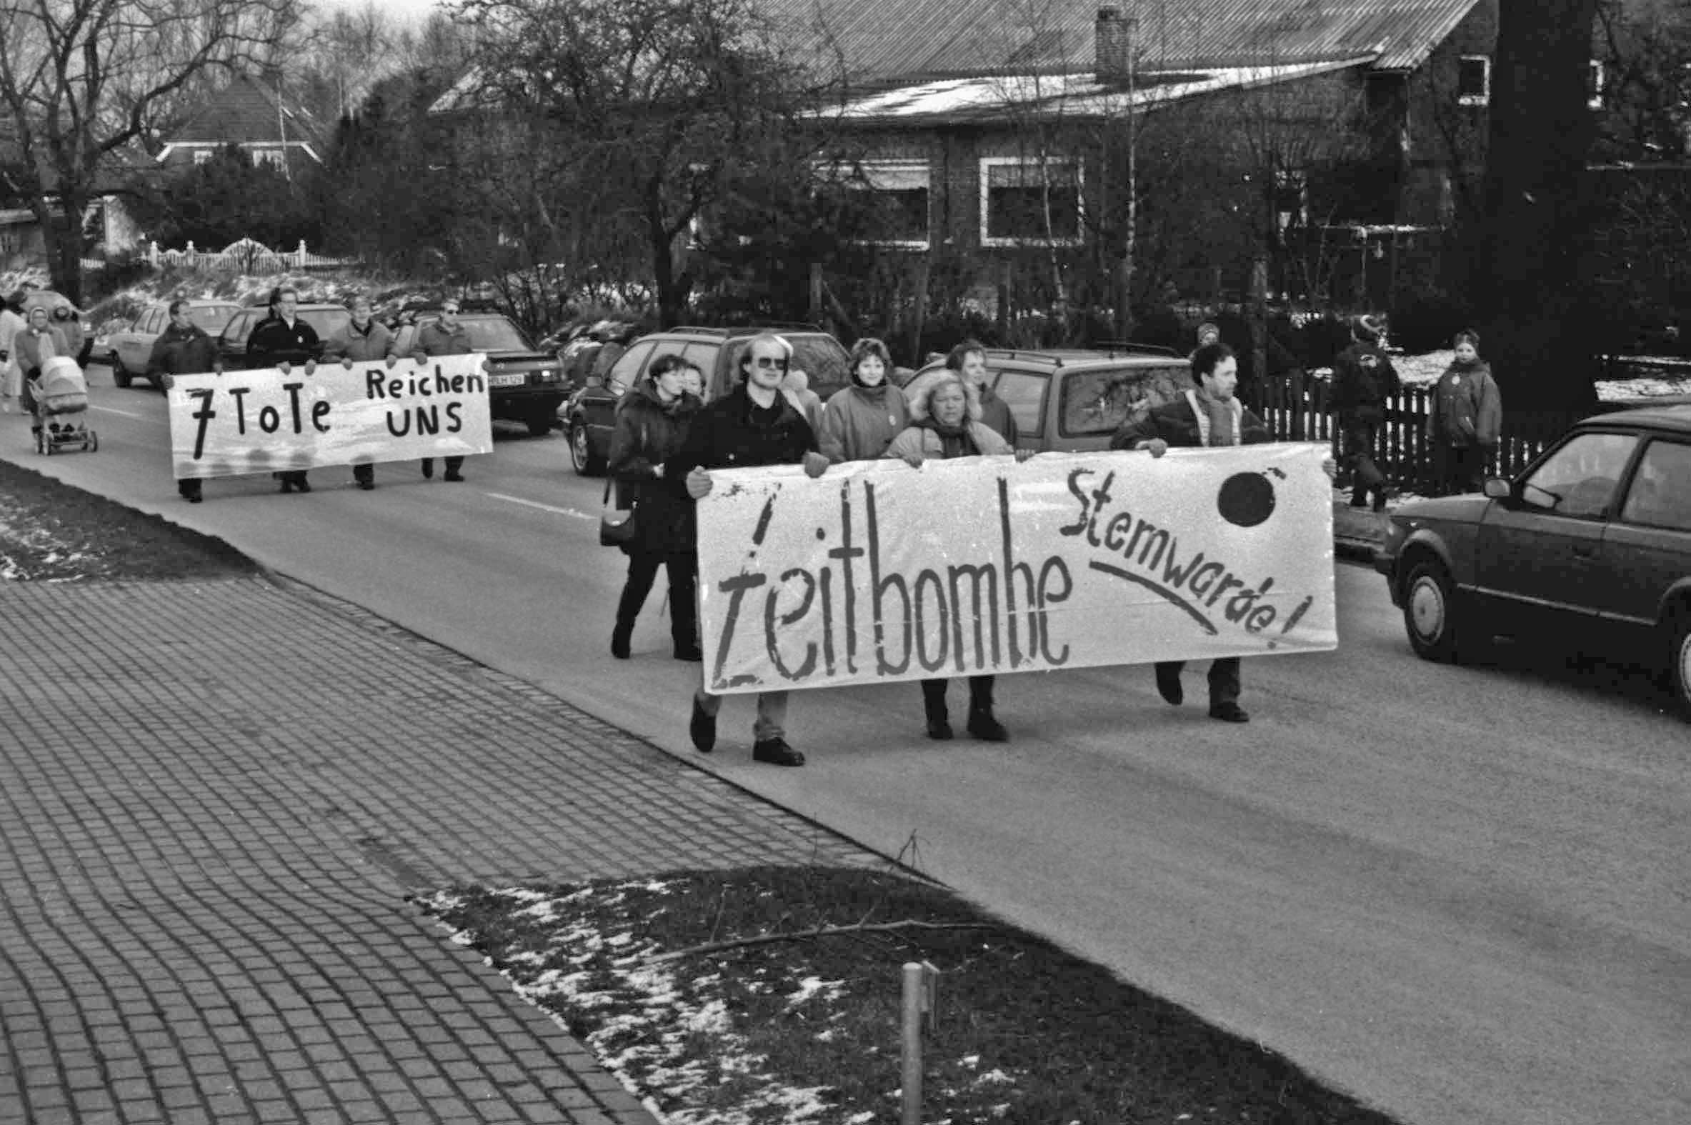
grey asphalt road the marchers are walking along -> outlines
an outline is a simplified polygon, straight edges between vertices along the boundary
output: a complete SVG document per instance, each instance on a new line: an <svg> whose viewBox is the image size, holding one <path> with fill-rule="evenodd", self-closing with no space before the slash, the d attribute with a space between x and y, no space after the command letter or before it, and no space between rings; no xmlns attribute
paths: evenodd
<svg viewBox="0 0 1691 1125"><path fill-rule="evenodd" d="M1341 563L1339 651L1246 661L1248 726L1167 707L1148 668L1103 668L1003 677L1004 746L927 741L918 692L895 685L795 697L803 770L751 763L747 700L703 758L661 582L634 660L607 655L622 558L597 545L602 482L570 472L561 435L501 431L465 484L408 462L369 494L330 469L311 496L211 480L188 506L162 398L103 369L91 384L98 453L37 457L10 416L0 455L903 851L1405 1122L1691 1122L1691 727L1635 675L1422 663L1383 582ZM1187 694L1202 700L1201 667Z"/></svg>

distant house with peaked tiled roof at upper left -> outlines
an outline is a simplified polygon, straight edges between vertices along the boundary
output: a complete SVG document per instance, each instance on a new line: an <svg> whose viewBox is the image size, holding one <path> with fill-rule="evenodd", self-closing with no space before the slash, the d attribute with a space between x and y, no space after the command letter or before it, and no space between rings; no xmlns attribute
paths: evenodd
<svg viewBox="0 0 1691 1125"><path fill-rule="evenodd" d="M203 164L227 145L252 156L254 164L282 169L323 164L328 152L323 129L303 107L286 100L276 83L237 74L162 139L156 156L162 167Z"/></svg>

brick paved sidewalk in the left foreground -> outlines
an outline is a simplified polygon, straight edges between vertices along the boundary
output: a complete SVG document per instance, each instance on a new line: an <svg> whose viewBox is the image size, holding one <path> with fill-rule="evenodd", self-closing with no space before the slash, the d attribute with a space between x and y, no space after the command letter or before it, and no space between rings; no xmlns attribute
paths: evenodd
<svg viewBox="0 0 1691 1125"><path fill-rule="evenodd" d="M0 584L0 1123L651 1122L408 890L878 864L350 606Z"/></svg>

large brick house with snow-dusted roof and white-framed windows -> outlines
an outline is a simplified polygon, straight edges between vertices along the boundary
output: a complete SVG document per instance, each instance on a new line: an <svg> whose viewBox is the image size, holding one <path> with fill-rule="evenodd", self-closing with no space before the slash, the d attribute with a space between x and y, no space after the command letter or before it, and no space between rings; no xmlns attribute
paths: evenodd
<svg viewBox="0 0 1691 1125"><path fill-rule="evenodd" d="M876 242L962 259L976 296L1053 250L1101 286L1135 183L1140 299L1165 281L1238 294L1267 252L1273 289L1385 303L1370 261L1424 249L1476 200L1497 0L768 8L846 61L825 127Z"/></svg>

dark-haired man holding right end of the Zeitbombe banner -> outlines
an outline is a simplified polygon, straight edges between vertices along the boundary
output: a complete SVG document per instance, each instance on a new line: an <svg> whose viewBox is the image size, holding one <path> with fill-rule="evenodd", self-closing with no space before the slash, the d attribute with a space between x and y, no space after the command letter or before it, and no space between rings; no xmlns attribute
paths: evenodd
<svg viewBox="0 0 1691 1125"><path fill-rule="evenodd" d="M1273 442L1261 418L1245 409L1233 391L1240 382L1240 360L1226 343L1206 343L1192 352L1192 382L1172 403L1153 406L1140 420L1130 420L1109 438L1113 450L1150 450L1162 457L1170 445L1219 447ZM1338 464L1329 457L1322 470L1331 480ZM1218 656L1209 663L1209 717L1223 722L1250 722L1240 707L1240 656ZM1179 707L1185 700L1180 687L1184 660L1157 661L1157 692Z"/></svg>

